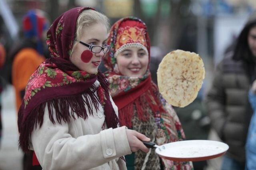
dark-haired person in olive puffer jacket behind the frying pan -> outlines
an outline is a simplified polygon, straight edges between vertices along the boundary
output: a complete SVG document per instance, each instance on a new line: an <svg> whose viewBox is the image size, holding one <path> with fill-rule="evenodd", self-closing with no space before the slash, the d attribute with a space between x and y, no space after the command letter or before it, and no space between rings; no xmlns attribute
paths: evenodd
<svg viewBox="0 0 256 170"><path fill-rule="evenodd" d="M256 79L256 15L253 14L229 52L216 67L212 87L206 96L206 109L220 139L229 145L222 170L242 170L245 143L252 108L248 90Z"/></svg>

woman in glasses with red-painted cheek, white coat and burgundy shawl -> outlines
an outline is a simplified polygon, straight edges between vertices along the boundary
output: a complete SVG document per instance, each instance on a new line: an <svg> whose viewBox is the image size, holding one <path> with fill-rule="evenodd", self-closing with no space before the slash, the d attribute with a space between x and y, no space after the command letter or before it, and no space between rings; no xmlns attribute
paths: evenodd
<svg viewBox="0 0 256 170"><path fill-rule="evenodd" d="M119 127L98 66L110 50L109 21L92 8L59 16L47 32L50 58L32 74L18 113L19 145L44 170L126 170L124 155L149 138ZM36 160L37 157L37 160ZM38 161L38 162L37 162Z"/></svg>

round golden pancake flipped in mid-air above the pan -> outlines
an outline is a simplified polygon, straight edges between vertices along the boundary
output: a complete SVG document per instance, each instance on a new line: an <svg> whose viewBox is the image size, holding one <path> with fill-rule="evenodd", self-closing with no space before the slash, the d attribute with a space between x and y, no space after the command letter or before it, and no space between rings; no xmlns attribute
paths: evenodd
<svg viewBox="0 0 256 170"><path fill-rule="evenodd" d="M175 50L166 54L158 66L158 88L169 104L182 108L195 100L204 75L204 63L198 54Z"/></svg>

